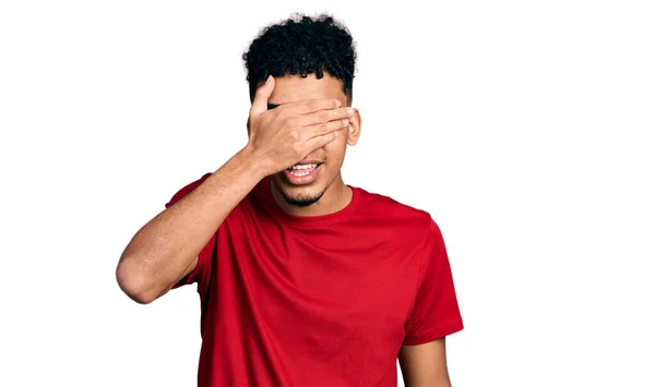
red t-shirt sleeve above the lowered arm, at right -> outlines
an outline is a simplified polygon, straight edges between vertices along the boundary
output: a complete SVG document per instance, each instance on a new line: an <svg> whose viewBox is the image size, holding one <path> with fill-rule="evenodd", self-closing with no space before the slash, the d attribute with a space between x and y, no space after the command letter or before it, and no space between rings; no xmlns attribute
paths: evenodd
<svg viewBox="0 0 655 387"><path fill-rule="evenodd" d="M416 299L405 326L403 344L408 346L464 329L443 237L431 218L421 261Z"/></svg>

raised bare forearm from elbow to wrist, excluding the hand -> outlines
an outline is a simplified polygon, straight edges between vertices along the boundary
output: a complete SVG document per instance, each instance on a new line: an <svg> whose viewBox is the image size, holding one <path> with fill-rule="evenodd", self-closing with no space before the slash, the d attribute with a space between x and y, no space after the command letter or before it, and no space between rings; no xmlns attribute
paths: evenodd
<svg viewBox="0 0 655 387"><path fill-rule="evenodd" d="M243 148L145 223L120 257L116 274L121 289L143 303L170 289L263 177L255 156Z"/></svg>

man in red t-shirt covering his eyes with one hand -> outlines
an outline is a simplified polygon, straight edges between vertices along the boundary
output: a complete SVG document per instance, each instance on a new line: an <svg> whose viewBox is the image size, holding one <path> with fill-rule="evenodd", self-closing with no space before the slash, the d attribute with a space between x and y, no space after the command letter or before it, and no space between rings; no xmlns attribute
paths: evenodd
<svg viewBox="0 0 655 387"><path fill-rule="evenodd" d="M121 289L150 303L198 283L200 386L450 386L463 329L426 211L345 184L355 50L329 15L264 28L243 55L248 144L134 235Z"/></svg>

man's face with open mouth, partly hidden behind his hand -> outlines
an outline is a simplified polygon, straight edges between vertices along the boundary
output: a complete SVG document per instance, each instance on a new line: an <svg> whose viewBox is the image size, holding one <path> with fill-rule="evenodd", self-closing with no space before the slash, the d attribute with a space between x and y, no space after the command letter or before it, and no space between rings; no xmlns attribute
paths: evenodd
<svg viewBox="0 0 655 387"><path fill-rule="evenodd" d="M275 88L269 98L269 104L284 105L302 99L312 98L336 98L341 100L342 107L347 106L347 96L342 89L341 80L323 72L322 78L315 74L307 77L287 74L275 78ZM340 131L340 136L332 143L318 148L306 156L307 159L321 162L315 179L307 184L294 184L285 176L285 171L271 177L274 189L281 194L286 203L294 207L308 207L314 203L334 203L344 192L345 184L342 180L341 168L346 155L347 145L357 144L359 137L361 119L359 111L350 120L348 126Z"/></svg>

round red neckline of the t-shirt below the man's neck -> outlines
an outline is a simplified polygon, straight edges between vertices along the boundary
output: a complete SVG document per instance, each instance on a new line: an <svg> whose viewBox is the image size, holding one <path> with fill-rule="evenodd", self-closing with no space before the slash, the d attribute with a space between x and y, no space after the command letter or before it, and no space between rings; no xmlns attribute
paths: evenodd
<svg viewBox="0 0 655 387"><path fill-rule="evenodd" d="M284 223L296 228L315 228L321 226L334 225L349 218L359 204L359 197L361 192L358 188L346 184L353 191L353 197L350 202L342 209L325 215L314 216L299 216L285 211L273 197L271 192L271 177L265 177L255 186L254 193L260 203L262 203L265 209L275 218L282 220Z"/></svg>

